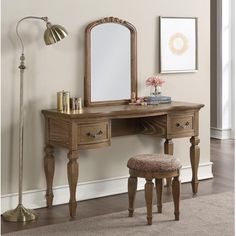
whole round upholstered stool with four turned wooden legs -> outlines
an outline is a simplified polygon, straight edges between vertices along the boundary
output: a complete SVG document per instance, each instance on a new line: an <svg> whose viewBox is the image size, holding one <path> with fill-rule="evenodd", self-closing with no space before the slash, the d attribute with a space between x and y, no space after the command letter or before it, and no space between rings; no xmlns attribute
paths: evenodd
<svg viewBox="0 0 236 236"><path fill-rule="evenodd" d="M147 206L147 222L152 224L152 196L153 182L155 179L158 213L162 212L162 187L163 178L173 178L172 194L174 200L175 220L179 220L180 201L180 161L166 154L141 154L133 156L127 163L130 177L128 179L129 216L133 216L134 199L137 189L137 177L145 178L145 200Z"/></svg>

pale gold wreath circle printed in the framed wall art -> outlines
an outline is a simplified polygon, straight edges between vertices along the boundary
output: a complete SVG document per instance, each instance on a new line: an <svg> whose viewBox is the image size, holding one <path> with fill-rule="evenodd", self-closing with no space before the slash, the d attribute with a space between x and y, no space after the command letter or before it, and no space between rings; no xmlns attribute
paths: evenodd
<svg viewBox="0 0 236 236"><path fill-rule="evenodd" d="M181 33L173 34L169 40L169 48L173 54L184 54L188 50L187 37Z"/></svg>

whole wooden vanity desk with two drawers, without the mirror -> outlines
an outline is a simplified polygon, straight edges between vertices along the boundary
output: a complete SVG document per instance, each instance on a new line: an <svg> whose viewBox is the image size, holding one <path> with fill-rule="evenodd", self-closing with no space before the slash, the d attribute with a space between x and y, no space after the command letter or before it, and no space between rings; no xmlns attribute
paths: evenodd
<svg viewBox="0 0 236 236"><path fill-rule="evenodd" d="M79 150L111 145L112 137L131 134L155 135L165 138L164 152L173 154L173 138L190 138L192 191L198 190L199 110L202 104L172 102L157 106L86 107L76 113L43 110L45 117L45 175L47 207L53 203L54 147L68 151L68 182L70 216L76 216L76 186L79 174ZM112 158L112 157L111 157Z"/></svg>

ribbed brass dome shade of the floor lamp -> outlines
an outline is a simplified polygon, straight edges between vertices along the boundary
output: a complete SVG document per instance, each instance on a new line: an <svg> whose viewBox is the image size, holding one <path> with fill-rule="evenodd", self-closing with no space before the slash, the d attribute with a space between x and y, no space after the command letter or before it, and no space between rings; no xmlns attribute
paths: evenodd
<svg viewBox="0 0 236 236"><path fill-rule="evenodd" d="M59 42L68 35L66 29L61 25L47 25L44 32L44 41L46 45Z"/></svg>

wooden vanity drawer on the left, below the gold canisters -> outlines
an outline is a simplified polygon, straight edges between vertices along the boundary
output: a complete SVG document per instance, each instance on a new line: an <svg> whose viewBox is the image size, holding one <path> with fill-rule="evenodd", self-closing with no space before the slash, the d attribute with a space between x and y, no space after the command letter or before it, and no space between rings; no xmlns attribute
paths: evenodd
<svg viewBox="0 0 236 236"><path fill-rule="evenodd" d="M81 148L97 148L110 145L110 122L80 124L78 126L78 144Z"/></svg>

